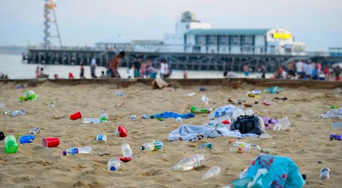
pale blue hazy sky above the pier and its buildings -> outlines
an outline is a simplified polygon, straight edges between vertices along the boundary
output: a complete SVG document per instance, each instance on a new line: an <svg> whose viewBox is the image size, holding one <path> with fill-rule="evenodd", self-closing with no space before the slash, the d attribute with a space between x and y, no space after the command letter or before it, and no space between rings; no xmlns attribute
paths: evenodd
<svg viewBox="0 0 342 188"><path fill-rule="evenodd" d="M64 46L94 46L121 35L161 40L183 11L212 28L274 28L294 33L306 51L342 47L342 0L56 0ZM50 33L56 33L54 26ZM0 45L43 42L43 0L0 0ZM52 40L58 44L57 40Z"/></svg>

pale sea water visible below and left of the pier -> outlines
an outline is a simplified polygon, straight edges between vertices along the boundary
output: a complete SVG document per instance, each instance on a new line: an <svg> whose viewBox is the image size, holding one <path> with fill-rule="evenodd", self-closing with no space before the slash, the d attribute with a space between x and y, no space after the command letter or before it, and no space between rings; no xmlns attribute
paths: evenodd
<svg viewBox="0 0 342 188"><path fill-rule="evenodd" d="M61 78L68 78L71 72L75 78L80 78L79 65L43 65L43 64L26 64L21 63L21 55L0 54L0 72L7 74L10 79L30 79L35 78L36 67L43 67L44 74L48 74L53 79L54 74L58 74ZM85 78L91 78L90 67L84 66ZM106 68L98 66L95 70L96 76L101 75L101 71L106 72ZM127 68L120 67L119 73L122 78L128 78ZM243 78L242 72L235 72L238 77ZM251 73L250 78L259 78L261 73ZM271 76L266 74L266 78ZM171 78L183 78L183 70L172 70ZM223 78L223 71L194 71L188 70L188 78Z"/></svg>

